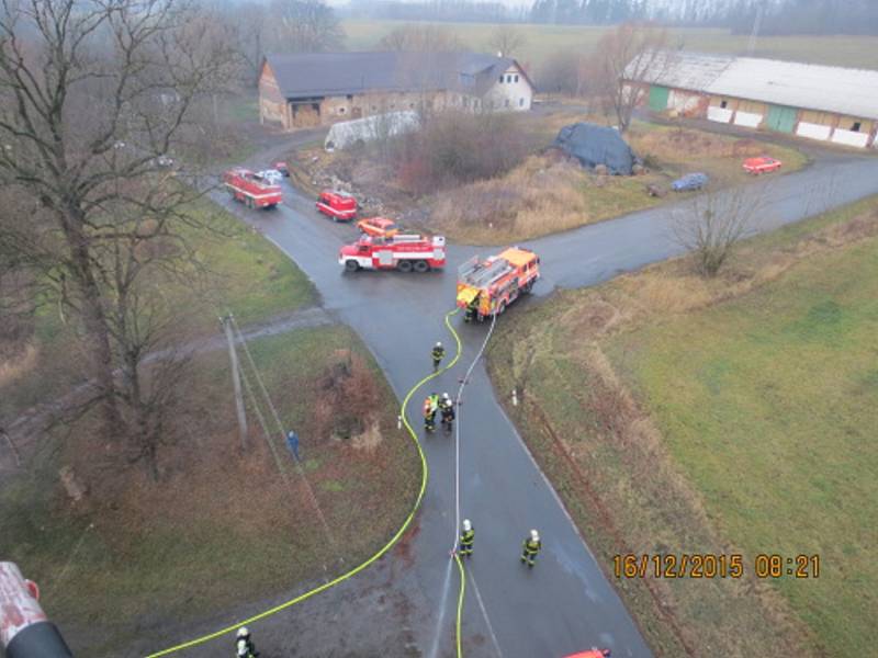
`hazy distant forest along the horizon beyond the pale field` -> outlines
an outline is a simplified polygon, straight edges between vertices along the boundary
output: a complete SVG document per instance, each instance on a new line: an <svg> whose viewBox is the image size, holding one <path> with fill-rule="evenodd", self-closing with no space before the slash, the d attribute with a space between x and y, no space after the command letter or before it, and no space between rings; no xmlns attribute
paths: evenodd
<svg viewBox="0 0 878 658"><path fill-rule="evenodd" d="M667 25L724 27L763 35L878 34L878 0L533 0L509 8L475 0L351 0L341 14L406 21L475 21L609 25L658 21Z"/></svg>

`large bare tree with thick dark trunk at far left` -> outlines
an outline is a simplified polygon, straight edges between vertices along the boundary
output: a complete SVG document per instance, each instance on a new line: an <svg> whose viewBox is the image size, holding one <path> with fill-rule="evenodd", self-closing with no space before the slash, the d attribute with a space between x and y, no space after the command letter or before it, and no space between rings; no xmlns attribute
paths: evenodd
<svg viewBox="0 0 878 658"><path fill-rule="evenodd" d="M177 374L145 376L143 359L171 324L160 282L192 274L181 228L199 225L200 194L156 157L196 127L233 63L215 22L178 0L3 0L0 185L31 214L0 226L0 266L30 272L34 298L76 322L83 404L154 475L143 445L161 434Z"/></svg>

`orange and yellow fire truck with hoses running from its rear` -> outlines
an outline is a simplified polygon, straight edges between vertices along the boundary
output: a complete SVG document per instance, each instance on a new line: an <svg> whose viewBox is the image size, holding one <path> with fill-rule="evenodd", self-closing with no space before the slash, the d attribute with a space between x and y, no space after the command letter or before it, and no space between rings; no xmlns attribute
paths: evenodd
<svg viewBox="0 0 878 658"><path fill-rule="evenodd" d="M458 306L464 320L499 315L540 277L540 257L530 249L509 247L497 256L475 256L458 269Z"/></svg>

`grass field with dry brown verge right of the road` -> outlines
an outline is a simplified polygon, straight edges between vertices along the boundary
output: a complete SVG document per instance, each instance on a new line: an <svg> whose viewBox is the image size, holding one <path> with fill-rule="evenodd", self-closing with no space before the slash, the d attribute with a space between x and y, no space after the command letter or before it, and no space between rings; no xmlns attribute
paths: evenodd
<svg viewBox="0 0 878 658"><path fill-rule="evenodd" d="M878 198L510 316L495 385L589 545L740 553L733 579L621 579L660 655L873 653ZM757 554L819 578L754 577Z"/></svg>

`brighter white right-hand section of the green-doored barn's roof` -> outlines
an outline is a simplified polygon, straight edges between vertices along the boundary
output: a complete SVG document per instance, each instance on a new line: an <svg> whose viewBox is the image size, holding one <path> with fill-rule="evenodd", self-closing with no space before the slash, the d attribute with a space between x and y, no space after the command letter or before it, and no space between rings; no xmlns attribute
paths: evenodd
<svg viewBox="0 0 878 658"><path fill-rule="evenodd" d="M706 91L878 118L878 71L739 57Z"/></svg>

